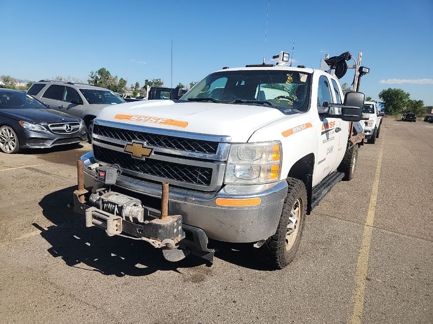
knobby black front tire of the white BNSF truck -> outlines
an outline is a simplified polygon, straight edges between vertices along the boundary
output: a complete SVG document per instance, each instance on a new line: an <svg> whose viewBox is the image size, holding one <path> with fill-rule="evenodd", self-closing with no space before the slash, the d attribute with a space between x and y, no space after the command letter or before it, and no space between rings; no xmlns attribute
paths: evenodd
<svg viewBox="0 0 433 324"><path fill-rule="evenodd" d="M295 254L298 251L304 228L307 203L305 185L301 180L294 178L287 178L287 184L287 197L284 200L277 231L274 235L269 237L262 246L254 248L258 260L274 270L282 269L293 261ZM297 206L295 207L295 210L300 208L300 211L297 221L293 222L293 218L290 219L290 217L295 205ZM293 224L294 232L292 234L295 234L290 243L287 242L287 231L288 226L290 225L289 222L291 225ZM287 243L291 246L289 249L286 248Z"/></svg>

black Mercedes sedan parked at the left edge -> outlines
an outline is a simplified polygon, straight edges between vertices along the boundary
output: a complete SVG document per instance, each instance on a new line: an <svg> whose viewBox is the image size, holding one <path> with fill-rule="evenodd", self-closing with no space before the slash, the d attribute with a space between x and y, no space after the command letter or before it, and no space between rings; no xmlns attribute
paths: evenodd
<svg viewBox="0 0 433 324"><path fill-rule="evenodd" d="M0 89L0 151L44 148L87 141L78 117L48 109L22 91Z"/></svg>

